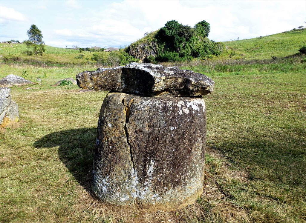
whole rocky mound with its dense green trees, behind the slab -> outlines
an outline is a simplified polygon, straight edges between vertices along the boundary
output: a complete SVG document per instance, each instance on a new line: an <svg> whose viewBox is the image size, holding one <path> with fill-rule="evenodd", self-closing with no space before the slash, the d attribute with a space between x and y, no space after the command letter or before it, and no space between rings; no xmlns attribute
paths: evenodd
<svg viewBox="0 0 306 223"><path fill-rule="evenodd" d="M193 28L171 20L158 31L132 43L126 51L145 62L204 59L224 51L222 43L215 43L207 38L209 31L210 24L205 20ZM139 51L143 53L139 54Z"/></svg>

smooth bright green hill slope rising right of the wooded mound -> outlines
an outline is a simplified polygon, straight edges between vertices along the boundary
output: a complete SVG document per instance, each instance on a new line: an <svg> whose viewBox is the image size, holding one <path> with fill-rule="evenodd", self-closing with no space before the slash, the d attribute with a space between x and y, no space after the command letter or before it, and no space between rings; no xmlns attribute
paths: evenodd
<svg viewBox="0 0 306 223"><path fill-rule="evenodd" d="M245 59L268 59L298 53L306 45L306 29L296 29L252 39L223 42Z"/></svg>

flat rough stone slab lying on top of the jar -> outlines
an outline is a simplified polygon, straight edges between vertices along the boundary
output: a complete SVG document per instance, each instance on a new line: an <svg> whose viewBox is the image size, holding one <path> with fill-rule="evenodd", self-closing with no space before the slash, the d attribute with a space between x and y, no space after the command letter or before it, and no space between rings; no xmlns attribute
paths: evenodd
<svg viewBox="0 0 306 223"><path fill-rule="evenodd" d="M124 67L99 68L76 75L79 87L147 96L199 96L214 90L207 76L178 67L130 63Z"/></svg>

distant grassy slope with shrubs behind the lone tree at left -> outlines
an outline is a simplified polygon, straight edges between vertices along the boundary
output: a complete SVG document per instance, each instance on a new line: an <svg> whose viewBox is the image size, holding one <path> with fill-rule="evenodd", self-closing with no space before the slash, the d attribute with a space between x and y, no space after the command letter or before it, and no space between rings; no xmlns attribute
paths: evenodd
<svg viewBox="0 0 306 223"><path fill-rule="evenodd" d="M96 50L83 51L81 48L68 49L53 46L45 47L45 53L38 58L33 55L26 44L0 43L0 63L11 64L31 64L37 66L118 66L130 62L137 62L124 50L113 52L95 52ZM88 48L89 49L89 48Z"/></svg>

